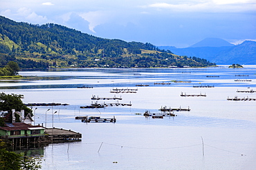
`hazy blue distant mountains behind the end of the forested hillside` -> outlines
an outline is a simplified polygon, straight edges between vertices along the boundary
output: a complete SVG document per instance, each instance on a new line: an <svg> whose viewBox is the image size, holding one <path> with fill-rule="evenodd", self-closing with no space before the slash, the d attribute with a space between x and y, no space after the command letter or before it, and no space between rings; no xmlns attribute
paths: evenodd
<svg viewBox="0 0 256 170"><path fill-rule="evenodd" d="M180 56L196 56L217 64L256 64L256 42L233 45L223 39L208 38L190 47L159 46Z"/></svg>

